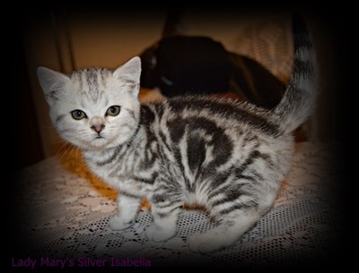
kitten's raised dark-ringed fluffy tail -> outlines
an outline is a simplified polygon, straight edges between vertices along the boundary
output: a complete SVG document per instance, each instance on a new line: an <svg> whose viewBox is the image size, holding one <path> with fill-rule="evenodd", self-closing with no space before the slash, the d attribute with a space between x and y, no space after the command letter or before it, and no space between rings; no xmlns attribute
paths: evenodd
<svg viewBox="0 0 359 273"><path fill-rule="evenodd" d="M293 73L284 97L274 109L285 132L293 132L311 115L318 95L317 57L299 14L293 15L293 33Z"/></svg>

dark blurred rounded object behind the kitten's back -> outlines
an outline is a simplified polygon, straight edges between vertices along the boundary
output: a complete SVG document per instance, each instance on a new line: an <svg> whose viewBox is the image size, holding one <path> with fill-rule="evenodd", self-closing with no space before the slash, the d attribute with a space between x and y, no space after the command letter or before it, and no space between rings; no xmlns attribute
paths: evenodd
<svg viewBox="0 0 359 273"><path fill-rule="evenodd" d="M207 37L169 36L140 56L141 87L158 87L168 98L232 92L241 100L272 108L285 92L285 84L263 65Z"/></svg>

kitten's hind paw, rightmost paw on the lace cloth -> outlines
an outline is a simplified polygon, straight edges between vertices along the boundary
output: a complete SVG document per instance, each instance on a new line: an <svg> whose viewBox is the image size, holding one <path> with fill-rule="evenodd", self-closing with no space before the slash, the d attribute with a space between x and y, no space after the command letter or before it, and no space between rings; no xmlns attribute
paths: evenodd
<svg viewBox="0 0 359 273"><path fill-rule="evenodd" d="M220 240L213 235L193 235L188 238L188 247L191 252L208 253L222 248Z"/></svg>

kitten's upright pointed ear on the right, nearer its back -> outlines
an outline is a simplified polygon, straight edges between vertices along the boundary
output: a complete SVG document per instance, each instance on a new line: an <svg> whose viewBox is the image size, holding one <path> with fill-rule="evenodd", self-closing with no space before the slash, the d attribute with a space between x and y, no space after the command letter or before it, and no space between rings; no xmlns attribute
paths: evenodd
<svg viewBox="0 0 359 273"><path fill-rule="evenodd" d="M139 85L141 75L141 59L136 56L129 60L126 64L118 67L113 76L121 81L125 81L131 85Z"/></svg>

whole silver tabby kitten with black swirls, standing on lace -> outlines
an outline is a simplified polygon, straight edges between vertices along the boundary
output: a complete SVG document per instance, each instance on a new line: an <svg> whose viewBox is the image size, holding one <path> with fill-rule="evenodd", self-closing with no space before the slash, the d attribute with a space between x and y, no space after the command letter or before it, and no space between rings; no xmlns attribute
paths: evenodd
<svg viewBox="0 0 359 273"><path fill-rule="evenodd" d="M122 230L140 200L152 203L146 235L176 233L183 202L206 206L218 226L188 238L194 252L235 243L271 208L293 155L291 132L316 98L315 55L305 28L295 35L293 75L273 110L215 98L173 98L140 105L140 59L115 71L89 68L70 76L39 67L39 82L59 134L83 149L92 171L118 189Z"/></svg>

